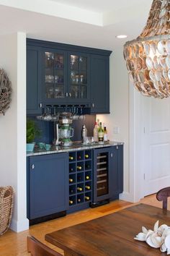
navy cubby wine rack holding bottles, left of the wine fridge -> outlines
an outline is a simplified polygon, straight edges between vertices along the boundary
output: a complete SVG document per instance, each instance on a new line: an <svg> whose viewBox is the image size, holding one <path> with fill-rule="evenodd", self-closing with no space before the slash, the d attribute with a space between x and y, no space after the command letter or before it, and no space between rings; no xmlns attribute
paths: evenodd
<svg viewBox="0 0 170 256"><path fill-rule="evenodd" d="M69 153L69 208L92 199L92 150Z"/></svg>

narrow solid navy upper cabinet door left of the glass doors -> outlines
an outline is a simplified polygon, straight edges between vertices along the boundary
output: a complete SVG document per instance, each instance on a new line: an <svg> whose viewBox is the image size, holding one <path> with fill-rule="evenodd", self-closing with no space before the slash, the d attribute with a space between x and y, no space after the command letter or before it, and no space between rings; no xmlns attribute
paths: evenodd
<svg viewBox="0 0 170 256"><path fill-rule="evenodd" d="M40 48L27 46L27 114L41 113Z"/></svg>

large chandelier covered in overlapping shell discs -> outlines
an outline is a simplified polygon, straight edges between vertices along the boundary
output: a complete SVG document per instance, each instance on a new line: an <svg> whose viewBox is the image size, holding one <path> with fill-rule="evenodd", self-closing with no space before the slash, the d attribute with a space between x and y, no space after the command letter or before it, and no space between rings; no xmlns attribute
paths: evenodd
<svg viewBox="0 0 170 256"><path fill-rule="evenodd" d="M170 0L153 0L146 27L125 43L130 80L143 95L170 95Z"/></svg>

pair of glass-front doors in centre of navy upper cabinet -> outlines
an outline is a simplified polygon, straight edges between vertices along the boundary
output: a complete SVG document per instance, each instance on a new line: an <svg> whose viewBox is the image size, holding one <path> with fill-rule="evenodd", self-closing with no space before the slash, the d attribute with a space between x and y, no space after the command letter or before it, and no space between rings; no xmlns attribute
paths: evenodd
<svg viewBox="0 0 170 256"><path fill-rule="evenodd" d="M89 103L89 56L47 48L42 52L45 104Z"/></svg>

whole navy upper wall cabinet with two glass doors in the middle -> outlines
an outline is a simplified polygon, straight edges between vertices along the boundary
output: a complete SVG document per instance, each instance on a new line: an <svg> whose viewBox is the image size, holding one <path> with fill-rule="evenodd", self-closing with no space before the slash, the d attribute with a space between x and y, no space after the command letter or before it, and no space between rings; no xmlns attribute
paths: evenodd
<svg viewBox="0 0 170 256"><path fill-rule="evenodd" d="M91 113L109 113L110 54L27 39L27 114L40 113L40 103L86 105Z"/></svg>

